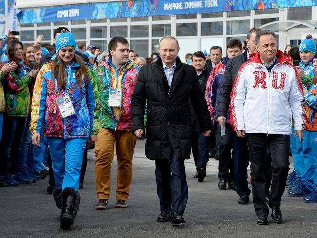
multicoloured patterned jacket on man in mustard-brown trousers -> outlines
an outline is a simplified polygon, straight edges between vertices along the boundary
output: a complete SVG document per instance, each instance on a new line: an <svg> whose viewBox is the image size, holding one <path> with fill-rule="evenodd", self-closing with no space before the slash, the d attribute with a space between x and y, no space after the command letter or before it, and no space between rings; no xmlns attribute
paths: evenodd
<svg viewBox="0 0 317 238"><path fill-rule="evenodd" d="M100 93L100 126L103 128L131 131L131 97L137 81L140 67L128 60L119 72L111 62L111 57L95 69L99 79ZM118 87L117 87L118 84ZM110 88L122 89L121 107L109 107Z"/></svg>

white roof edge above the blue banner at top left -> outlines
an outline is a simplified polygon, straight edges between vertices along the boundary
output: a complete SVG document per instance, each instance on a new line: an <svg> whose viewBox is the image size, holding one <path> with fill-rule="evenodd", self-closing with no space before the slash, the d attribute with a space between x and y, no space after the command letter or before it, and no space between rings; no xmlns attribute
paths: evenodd
<svg viewBox="0 0 317 238"><path fill-rule="evenodd" d="M109 1L124 1L124 0L16 0L17 8L33 8L33 7L51 7L70 4L83 4L83 3L96 3L96 2L109 2Z"/></svg>

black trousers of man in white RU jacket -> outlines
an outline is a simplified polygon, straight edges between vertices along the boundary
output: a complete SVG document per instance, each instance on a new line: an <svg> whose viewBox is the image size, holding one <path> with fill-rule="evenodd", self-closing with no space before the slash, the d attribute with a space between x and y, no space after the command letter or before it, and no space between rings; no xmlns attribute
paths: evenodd
<svg viewBox="0 0 317 238"><path fill-rule="evenodd" d="M274 134L246 134L246 140L249 148L249 157L251 161L251 185L253 194L253 204L256 214L269 215L269 209L266 205L266 179L265 179L265 161L267 147L271 151L271 203L273 206L280 206L280 201L285 190L286 179L289 171L289 143L290 135Z"/></svg>

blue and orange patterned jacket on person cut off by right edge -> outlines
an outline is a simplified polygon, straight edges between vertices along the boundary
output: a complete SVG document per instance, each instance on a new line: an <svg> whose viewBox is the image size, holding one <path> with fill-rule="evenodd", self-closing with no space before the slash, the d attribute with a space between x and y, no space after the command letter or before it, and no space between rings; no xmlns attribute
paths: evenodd
<svg viewBox="0 0 317 238"><path fill-rule="evenodd" d="M305 93L306 130L317 131L317 85L311 84Z"/></svg>

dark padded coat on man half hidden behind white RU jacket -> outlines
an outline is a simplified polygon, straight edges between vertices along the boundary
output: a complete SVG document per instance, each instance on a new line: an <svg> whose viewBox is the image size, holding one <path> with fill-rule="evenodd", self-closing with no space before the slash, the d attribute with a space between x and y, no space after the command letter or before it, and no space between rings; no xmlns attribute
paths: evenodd
<svg viewBox="0 0 317 238"><path fill-rule="evenodd" d="M218 117L227 117L232 86L241 65L249 60L247 52L248 48L245 49L242 55L229 59L227 62L218 96Z"/></svg>

